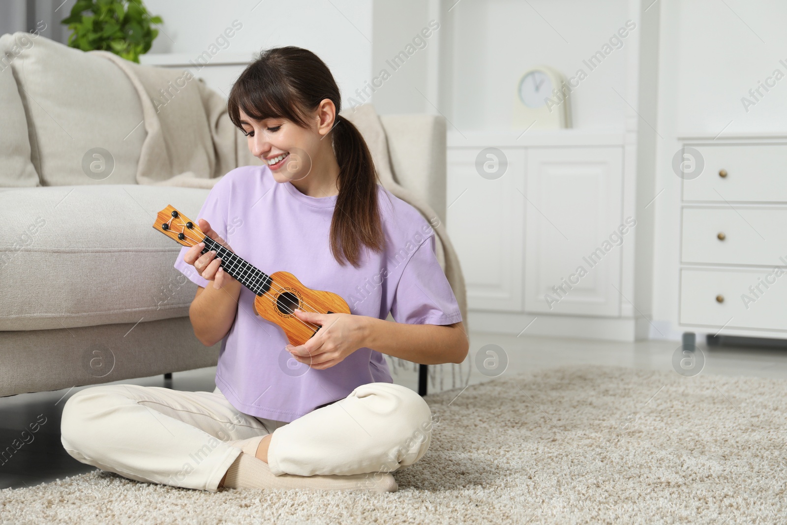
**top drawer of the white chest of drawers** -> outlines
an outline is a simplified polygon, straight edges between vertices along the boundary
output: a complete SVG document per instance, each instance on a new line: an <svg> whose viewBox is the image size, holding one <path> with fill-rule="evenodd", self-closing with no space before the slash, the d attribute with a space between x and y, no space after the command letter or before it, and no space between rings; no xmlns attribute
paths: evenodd
<svg viewBox="0 0 787 525"><path fill-rule="evenodd" d="M704 161L700 176L683 179L684 201L787 202L787 144L684 146Z"/></svg>

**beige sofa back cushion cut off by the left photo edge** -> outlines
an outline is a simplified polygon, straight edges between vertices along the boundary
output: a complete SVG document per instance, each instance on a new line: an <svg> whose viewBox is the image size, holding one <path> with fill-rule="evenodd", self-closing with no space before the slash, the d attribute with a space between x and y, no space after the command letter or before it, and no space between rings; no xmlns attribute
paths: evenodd
<svg viewBox="0 0 787 525"><path fill-rule="evenodd" d="M32 46L31 35L21 35L18 49ZM0 54L0 187L39 186L39 174L30 161L28 121L11 68L14 60L13 53Z"/></svg>

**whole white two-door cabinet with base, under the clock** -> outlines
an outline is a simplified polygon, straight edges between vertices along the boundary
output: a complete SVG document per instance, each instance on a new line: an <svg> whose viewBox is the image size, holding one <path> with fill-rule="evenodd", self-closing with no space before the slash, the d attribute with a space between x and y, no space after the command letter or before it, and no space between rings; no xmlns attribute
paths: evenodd
<svg viewBox="0 0 787 525"><path fill-rule="evenodd" d="M646 337L649 271L635 253L652 242L656 192L634 192L637 149L624 134L516 135L448 135L446 224L473 330ZM503 176L484 172L490 150Z"/></svg>

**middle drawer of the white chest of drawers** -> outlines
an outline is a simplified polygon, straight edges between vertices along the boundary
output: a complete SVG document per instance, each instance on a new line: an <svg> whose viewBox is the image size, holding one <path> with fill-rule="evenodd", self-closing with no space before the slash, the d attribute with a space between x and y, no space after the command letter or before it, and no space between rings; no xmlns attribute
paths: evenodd
<svg viewBox="0 0 787 525"><path fill-rule="evenodd" d="M725 205L682 213L682 262L787 265L787 208Z"/></svg>

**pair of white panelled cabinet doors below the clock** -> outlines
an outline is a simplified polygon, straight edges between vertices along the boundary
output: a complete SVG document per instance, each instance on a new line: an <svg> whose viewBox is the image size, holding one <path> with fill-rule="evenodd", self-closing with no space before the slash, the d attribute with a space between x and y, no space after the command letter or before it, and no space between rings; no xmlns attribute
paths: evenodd
<svg viewBox="0 0 787 525"><path fill-rule="evenodd" d="M508 166L491 178L479 172L486 149L448 152L447 224L468 308L620 316L623 146L501 146Z"/></svg>

